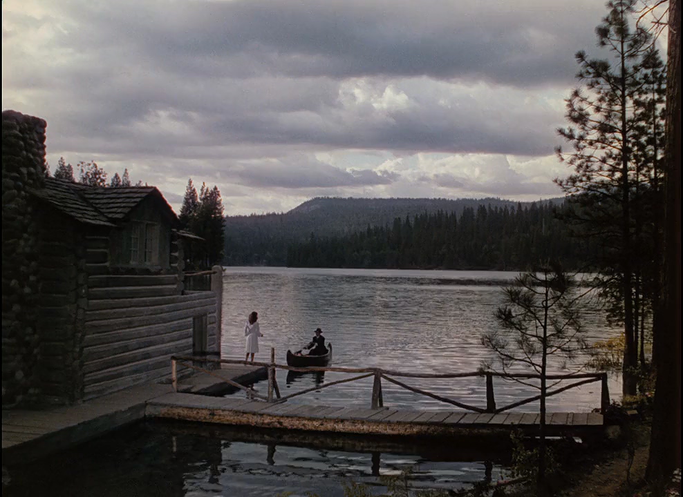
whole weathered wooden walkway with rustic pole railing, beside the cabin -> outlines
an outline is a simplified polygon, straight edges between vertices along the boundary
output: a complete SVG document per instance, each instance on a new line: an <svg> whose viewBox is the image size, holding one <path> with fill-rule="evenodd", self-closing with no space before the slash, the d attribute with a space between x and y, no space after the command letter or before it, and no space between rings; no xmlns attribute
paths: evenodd
<svg viewBox="0 0 683 497"><path fill-rule="evenodd" d="M197 364L214 364L203 369ZM195 369L199 374L178 378L178 367ZM335 371L359 376L335 380L315 387L281 396L276 369L290 371ZM187 370L186 370L187 371ZM500 375L498 375L500 376ZM525 380L532 375L519 375ZM369 406L346 405L334 407L289 402L291 398L333 385L374 378ZM397 377L402 380L397 380ZM486 406L468 405L467 399L438 396L405 383L404 378L431 378L435 380L468 380L485 377ZM538 400L532 396L509 405L496 406L494 378L496 373L402 373L377 368L293 368L274 362L245 364L239 360L219 360L174 356L171 358L171 382L150 383L132 387L108 396L96 398L80 405L55 407L46 411L6 411L2 416L3 462L9 464L39 458L66 449L79 442L101 436L107 431L142 418L161 418L234 427L259 429L286 429L299 433L342 433L355 436L449 437L449 436L501 436L520 429L536 434L541 425L538 413L512 411L521 405ZM268 379L267 394L259 393L245 384ZM609 404L606 375L582 373L580 375L549 376L558 381L572 382L556 387L548 395L556 395L570 388L590 382L602 382L601 407ZM398 409L384 406L382 380L440 402L448 408L440 410ZM241 389L246 396L220 395L230 385ZM457 409L457 410L454 410ZM595 436L601 433L604 418L601 413L554 412L545 416L545 430L550 436ZM6 459L7 458L7 459Z"/></svg>

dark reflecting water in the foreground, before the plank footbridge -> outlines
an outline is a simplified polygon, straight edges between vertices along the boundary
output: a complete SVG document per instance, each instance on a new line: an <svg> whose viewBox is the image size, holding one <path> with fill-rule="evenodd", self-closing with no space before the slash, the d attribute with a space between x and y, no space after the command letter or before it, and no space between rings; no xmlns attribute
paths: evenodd
<svg viewBox="0 0 683 497"><path fill-rule="evenodd" d="M382 489L378 477L414 469L411 485L460 489L503 475L505 440L408 440L310 436L175 422L144 422L58 456L10 467L3 496L342 497L348 481ZM7 463L6 461L3 461Z"/></svg>

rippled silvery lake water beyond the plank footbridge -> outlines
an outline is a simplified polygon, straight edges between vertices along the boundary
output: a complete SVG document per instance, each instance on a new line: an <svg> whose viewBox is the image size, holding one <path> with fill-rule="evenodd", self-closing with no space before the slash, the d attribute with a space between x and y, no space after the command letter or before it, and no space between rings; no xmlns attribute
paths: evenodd
<svg viewBox="0 0 683 497"><path fill-rule="evenodd" d="M285 363L287 349L300 349L317 327L333 344L333 364L382 367L406 372L452 373L476 371L492 353L481 335L496 327L494 313L502 302L500 286L517 273L506 271L397 271L343 269L226 268L223 277L223 357L242 358L246 315L259 312L260 360L270 347L276 361ZM587 307L584 324L589 342L618 333L607 326L595 302ZM556 364L556 371L561 371ZM528 372L528 371L526 371ZM282 374L282 371L280 371ZM346 378L325 373L325 381ZM287 393L316 384L312 375L291 377ZM282 381L282 378L279 380ZM485 380L421 380L404 382L433 393L486 403ZM259 389L259 386L256 386ZM498 406L536 395L516 382L494 380ZM610 380L618 393L619 382ZM323 405L369 405L372 379L341 384L292 401ZM384 405L445 409L437 400L383 382ZM590 411L600 404L600 383L548 399L550 409ZM534 411L530 404L521 410Z"/></svg>

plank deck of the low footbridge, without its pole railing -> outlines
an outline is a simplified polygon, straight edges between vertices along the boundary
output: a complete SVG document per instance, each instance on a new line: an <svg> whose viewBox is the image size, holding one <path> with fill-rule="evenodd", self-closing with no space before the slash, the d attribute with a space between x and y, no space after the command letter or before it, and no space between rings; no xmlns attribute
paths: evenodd
<svg viewBox="0 0 683 497"><path fill-rule="evenodd" d="M272 404L247 398L202 398L167 393L147 402L148 418L164 418L225 425L288 430L389 436L500 435L509 431L537 431L538 413L468 413ZM549 435L585 436L601 431L600 413L548 413Z"/></svg>

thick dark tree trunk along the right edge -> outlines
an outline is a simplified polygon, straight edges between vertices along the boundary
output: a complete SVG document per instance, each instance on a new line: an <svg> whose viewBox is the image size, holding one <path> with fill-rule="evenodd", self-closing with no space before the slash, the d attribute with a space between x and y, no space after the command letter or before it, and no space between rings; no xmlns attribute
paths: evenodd
<svg viewBox="0 0 683 497"><path fill-rule="evenodd" d="M647 477L664 485L681 467L681 54L680 0L668 12L663 315L655 329L657 384Z"/></svg>

